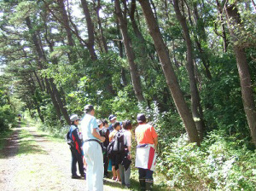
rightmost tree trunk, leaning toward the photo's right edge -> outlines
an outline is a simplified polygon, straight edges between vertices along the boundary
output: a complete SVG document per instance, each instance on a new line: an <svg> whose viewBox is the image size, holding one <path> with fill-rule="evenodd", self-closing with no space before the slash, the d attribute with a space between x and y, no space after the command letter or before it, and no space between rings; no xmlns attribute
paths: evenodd
<svg viewBox="0 0 256 191"><path fill-rule="evenodd" d="M236 32L233 31L234 28L237 29L242 27L240 14L238 13L238 9L236 8L235 4L226 4L225 11L228 17L227 20L229 20L228 26L231 38L234 41L234 51L236 54L236 65L240 77L243 107L247 116L247 123L250 128L251 136L253 138L253 144L256 147L256 108L253 99L251 75L249 72L245 49L240 47L240 44L237 42L239 37L237 37Z"/></svg>

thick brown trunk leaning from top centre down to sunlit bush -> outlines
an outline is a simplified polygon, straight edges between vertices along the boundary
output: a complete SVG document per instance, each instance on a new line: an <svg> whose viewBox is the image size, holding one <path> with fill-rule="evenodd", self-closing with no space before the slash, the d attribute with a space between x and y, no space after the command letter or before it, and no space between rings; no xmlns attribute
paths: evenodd
<svg viewBox="0 0 256 191"><path fill-rule="evenodd" d="M149 34L154 40L155 49L160 57L161 66L166 76L166 82L168 84L168 87L171 90L172 98L177 107L177 111L183 120L185 129L189 135L189 141L196 142L198 145L200 145L195 121L189 111L189 107L184 100L182 91L180 90L179 84L177 82L177 77L175 75L175 72L173 71L172 63L169 58L168 50L166 49L166 44L164 43L163 38L160 34L160 29L157 26L157 22L154 18L152 9L150 8L150 4L148 3L148 1L144 0L139 0L139 3L142 6L143 14L148 24Z"/></svg>

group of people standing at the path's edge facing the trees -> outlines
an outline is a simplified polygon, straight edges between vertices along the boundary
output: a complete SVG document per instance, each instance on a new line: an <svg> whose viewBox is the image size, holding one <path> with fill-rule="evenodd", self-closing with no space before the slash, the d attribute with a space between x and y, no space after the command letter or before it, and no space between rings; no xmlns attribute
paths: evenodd
<svg viewBox="0 0 256 191"><path fill-rule="evenodd" d="M108 177L108 165L112 164L113 177L130 188L131 175L131 141L132 125L130 120L119 122L116 116L109 116L109 126L106 119L96 119L92 105L84 107L84 117L79 119L77 114L70 117L71 126L68 136L73 140L70 147L72 153L72 178L85 177L88 191L103 191L103 178ZM142 190L152 190L153 172L155 168L157 134L151 124L147 124L143 113L137 114L138 126L135 130L137 152L135 166L138 168L139 182ZM78 125L80 124L81 133ZM111 155L106 151L116 140L116 136L123 136L124 151ZM80 176L77 175L76 164L79 165ZM86 174L84 169L86 169Z"/></svg>

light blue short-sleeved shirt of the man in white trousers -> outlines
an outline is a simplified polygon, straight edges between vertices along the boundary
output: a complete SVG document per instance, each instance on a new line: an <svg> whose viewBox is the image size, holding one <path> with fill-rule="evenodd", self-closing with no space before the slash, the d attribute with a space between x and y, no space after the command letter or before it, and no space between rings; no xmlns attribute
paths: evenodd
<svg viewBox="0 0 256 191"><path fill-rule="evenodd" d="M92 129L96 129L97 132L99 132L98 124L97 124L96 118L94 116L92 116L90 114L85 114L84 118L81 121L81 129L82 129L82 135L83 135L84 141L86 141L88 139L99 140L91 134Z"/></svg>

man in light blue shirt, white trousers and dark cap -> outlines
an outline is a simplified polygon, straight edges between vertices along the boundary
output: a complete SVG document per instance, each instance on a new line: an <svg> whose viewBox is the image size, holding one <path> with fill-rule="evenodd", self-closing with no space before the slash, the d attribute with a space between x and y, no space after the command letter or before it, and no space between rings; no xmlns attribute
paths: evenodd
<svg viewBox="0 0 256 191"><path fill-rule="evenodd" d="M84 112L81 128L84 139L84 157L87 163L87 190L103 191L104 168L101 142L105 141L105 137L99 135L98 125L94 117L94 107L86 105Z"/></svg>

